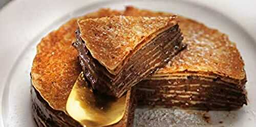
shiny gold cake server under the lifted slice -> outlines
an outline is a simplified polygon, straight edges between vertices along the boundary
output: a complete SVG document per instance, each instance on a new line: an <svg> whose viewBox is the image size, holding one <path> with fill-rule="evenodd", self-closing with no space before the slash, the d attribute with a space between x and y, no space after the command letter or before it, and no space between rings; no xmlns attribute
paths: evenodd
<svg viewBox="0 0 256 127"><path fill-rule="evenodd" d="M68 114L86 127L108 126L120 121L125 113L126 94L120 98L94 93L81 72L69 95Z"/></svg>

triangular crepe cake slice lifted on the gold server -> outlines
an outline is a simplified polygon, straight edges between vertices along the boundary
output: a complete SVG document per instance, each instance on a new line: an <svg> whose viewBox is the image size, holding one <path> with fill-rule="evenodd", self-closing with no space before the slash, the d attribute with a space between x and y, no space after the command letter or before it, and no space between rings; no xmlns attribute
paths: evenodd
<svg viewBox="0 0 256 127"><path fill-rule="evenodd" d="M78 20L74 47L92 88L120 97L184 45L176 16Z"/></svg>

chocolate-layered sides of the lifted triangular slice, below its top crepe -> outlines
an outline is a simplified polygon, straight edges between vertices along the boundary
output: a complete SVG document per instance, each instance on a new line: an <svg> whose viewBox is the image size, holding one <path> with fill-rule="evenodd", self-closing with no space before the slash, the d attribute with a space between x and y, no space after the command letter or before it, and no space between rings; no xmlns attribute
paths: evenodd
<svg viewBox="0 0 256 127"><path fill-rule="evenodd" d="M127 89L163 67L178 54L185 47L181 43L182 39L178 25L164 31L132 55L117 75L108 72L92 57L80 38L79 30L76 31L76 41L73 45L78 50L84 75L91 82L93 89L120 97Z"/></svg>

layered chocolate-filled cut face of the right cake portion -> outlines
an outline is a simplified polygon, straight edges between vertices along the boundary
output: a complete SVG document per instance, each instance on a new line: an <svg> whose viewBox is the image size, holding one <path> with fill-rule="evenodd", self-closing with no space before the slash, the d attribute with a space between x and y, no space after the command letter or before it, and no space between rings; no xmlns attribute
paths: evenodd
<svg viewBox="0 0 256 127"><path fill-rule="evenodd" d="M189 77L144 80L137 86L140 106L180 107L198 110L236 110L247 105L245 89L220 79Z"/></svg>

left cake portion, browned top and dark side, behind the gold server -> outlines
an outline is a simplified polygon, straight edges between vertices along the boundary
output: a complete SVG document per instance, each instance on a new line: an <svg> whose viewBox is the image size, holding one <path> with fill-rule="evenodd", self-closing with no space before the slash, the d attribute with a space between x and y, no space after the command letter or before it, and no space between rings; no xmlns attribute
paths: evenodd
<svg viewBox="0 0 256 127"><path fill-rule="evenodd" d="M101 9L80 18L97 18L120 15L121 12ZM37 45L37 53L31 70L32 114L37 126L81 126L66 111L69 94L82 71L77 59L77 51L72 46L77 26L74 18L58 30L42 38ZM109 126L131 126L135 102L134 90L127 91L130 96L123 118Z"/></svg>

